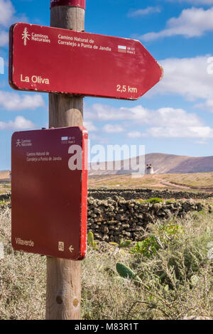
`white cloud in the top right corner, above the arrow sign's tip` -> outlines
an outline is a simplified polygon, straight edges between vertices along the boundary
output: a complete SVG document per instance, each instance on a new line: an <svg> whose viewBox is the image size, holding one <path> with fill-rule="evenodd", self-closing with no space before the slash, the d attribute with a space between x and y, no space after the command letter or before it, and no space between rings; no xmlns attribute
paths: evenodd
<svg viewBox="0 0 213 334"><path fill-rule="evenodd" d="M138 39L142 41L153 41L157 38L182 35L187 38L202 36L206 31L213 31L213 7L207 10L192 7L183 9L178 18L170 18L166 28L158 33L151 32Z"/></svg>

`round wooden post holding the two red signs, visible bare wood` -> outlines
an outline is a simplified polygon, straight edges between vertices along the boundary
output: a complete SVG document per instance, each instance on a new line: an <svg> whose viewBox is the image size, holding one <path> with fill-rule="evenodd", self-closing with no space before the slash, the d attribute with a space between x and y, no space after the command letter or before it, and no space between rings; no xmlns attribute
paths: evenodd
<svg viewBox="0 0 213 334"><path fill-rule="evenodd" d="M70 6L76 2L67 0L69 6L64 6L66 1L62 0L62 6L53 6L50 9L50 26L84 31L84 8ZM81 125L83 97L49 95L49 127ZM80 301L81 262L47 257L46 319L80 319Z"/></svg>

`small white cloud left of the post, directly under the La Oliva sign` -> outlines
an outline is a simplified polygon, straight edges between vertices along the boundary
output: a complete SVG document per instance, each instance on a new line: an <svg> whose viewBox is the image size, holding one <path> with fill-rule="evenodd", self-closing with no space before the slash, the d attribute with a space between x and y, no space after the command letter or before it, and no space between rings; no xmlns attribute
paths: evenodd
<svg viewBox="0 0 213 334"><path fill-rule="evenodd" d="M0 91L0 107L7 110L36 109L43 107L45 102L41 95L18 95L13 92Z"/></svg>

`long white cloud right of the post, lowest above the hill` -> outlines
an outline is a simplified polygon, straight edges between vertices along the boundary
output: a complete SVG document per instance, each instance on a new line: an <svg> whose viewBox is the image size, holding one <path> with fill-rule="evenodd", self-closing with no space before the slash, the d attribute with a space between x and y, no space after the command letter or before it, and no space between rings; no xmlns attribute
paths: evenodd
<svg viewBox="0 0 213 334"><path fill-rule="evenodd" d="M126 132L131 139L144 136L154 138L213 138L213 129L205 126L200 117L187 113L184 109L164 107L157 110L146 109L141 105L132 108L111 108L94 104L88 109L89 116L97 121L122 121L122 124L106 124L104 132L109 134ZM128 120L127 124L124 124ZM125 125L125 127L124 127ZM143 131L141 130L143 126ZM146 129L144 129L146 126ZM134 130L132 130L134 129Z"/></svg>

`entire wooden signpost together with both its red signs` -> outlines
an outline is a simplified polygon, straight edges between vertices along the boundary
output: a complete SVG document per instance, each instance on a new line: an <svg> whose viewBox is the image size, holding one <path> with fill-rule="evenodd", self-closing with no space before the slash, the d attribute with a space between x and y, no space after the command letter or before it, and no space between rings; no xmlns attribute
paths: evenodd
<svg viewBox="0 0 213 334"><path fill-rule="evenodd" d="M11 191L14 249L47 255L48 320L80 319L78 260L86 248L87 176L83 168L69 173L66 144L72 146L71 138L75 137L84 149L83 96L138 99L163 77L163 69L140 42L84 33L84 14L85 0L50 0L51 27L16 23L10 31L11 87L49 92L50 129L13 134ZM34 147L22 146L25 140ZM45 156L40 156L44 160L33 160L44 152ZM51 172L49 157L55 157ZM72 185L60 193L58 180L58 191L53 193L51 182L58 173L63 173L62 183ZM20 183L21 175L26 183ZM32 185L35 176L38 182L34 180ZM28 203L24 214L20 192L24 193L23 202ZM33 193L34 198L30 198ZM50 197L53 212L45 210L40 196L44 202ZM36 201L39 212L33 208ZM40 235L42 229L44 235Z"/></svg>

